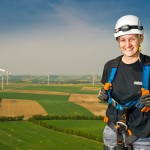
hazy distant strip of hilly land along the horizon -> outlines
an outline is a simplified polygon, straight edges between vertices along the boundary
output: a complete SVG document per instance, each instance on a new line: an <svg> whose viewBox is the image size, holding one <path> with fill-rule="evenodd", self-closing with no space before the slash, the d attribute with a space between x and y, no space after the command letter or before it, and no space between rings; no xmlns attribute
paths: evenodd
<svg viewBox="0 0 150 150"><path fill-rule="evenodd" d="M4 76L4 81L7 77ZM9 75L9 82L34 84L100 84L99 75ZM1 81L1 79L0 79Z"/></svg>

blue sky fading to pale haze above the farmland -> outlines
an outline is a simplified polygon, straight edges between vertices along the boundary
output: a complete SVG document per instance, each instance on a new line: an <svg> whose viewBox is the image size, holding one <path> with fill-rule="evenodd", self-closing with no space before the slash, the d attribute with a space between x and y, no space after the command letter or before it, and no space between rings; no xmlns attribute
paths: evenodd
<svg viewBox="0 0 150 150"><path fill-rule="evenodd" d="M14 75L101 75L121 55L117 20L136 15L150 55L149 0L0 0L0 68Z"/></svg>

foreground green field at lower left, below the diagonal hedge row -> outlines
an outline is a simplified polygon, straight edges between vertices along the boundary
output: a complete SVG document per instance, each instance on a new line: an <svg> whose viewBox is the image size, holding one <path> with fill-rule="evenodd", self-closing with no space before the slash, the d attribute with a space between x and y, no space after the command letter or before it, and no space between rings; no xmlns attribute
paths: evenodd
<svg viewBox="0 0 150 150"><path fill-rule="evenodd" d="M5 150L100 150L102 145L26 121L0 123L0 147Z"/></svg>

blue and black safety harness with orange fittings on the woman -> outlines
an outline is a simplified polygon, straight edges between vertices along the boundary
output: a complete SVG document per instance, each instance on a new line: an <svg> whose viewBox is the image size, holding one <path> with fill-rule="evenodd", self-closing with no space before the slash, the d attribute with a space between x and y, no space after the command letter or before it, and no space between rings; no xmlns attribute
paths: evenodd
<svg viewBox="0 0 150 150"><path fill-rule="evenodd" d="M111 97L110 89L112 87L112 83L115 78L121 58L122 56L119 56L114 59L108 82L104 85L104 89L107 91L109 98L108 103L113 105L117 110L121 111L121 117L116 124L110 122L108 117L104 117L104 122L107 122L108 126L110 126L110 128L112 128L117 133L117 149L132 150L132 143L137 139L137 137L131 132L131 130L127 126L128 110L131 107L138 107L141 109L141 112L148 112L150 111L150 107L145 107L143 104L141 104L140 98L134 102L128 102L125 105L121 105ZM143 64L143 84L141 89L143 96L150 93L150 59L149 57L140 54L140 60Z"/></svg>

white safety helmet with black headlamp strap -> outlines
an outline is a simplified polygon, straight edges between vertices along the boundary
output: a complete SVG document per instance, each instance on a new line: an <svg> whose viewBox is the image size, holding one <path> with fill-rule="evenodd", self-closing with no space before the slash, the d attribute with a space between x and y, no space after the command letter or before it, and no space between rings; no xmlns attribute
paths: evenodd
<svg viewBox="0 0 150 150"><path fill-rule="evenodd" d="M117 21L114 37L126 34L144 34L143 26L137 16L126 15Z"/></svg>

